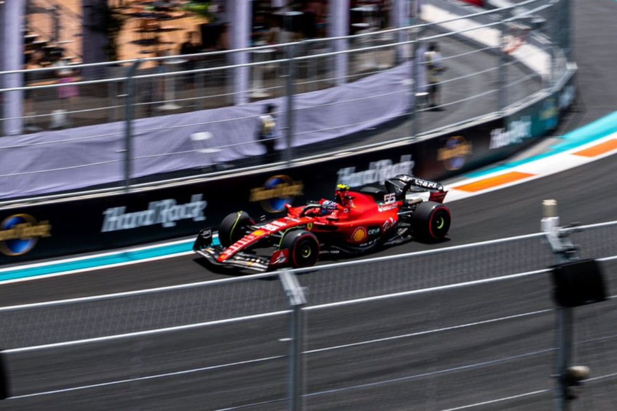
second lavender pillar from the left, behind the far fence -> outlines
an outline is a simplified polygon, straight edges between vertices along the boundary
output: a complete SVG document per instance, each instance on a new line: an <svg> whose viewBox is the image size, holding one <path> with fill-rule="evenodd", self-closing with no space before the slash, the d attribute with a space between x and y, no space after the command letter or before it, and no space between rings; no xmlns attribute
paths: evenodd
<svg viewBox="0 0 617 411"><path fill-rule="evenodd" d="M231 16L231 48L246 49L251 39L251 0L228 0L228 15ZM246 51L233 52L234 64L249 63L249 53ZM250 67L233 69L234 104L249 102Z"/></svg>

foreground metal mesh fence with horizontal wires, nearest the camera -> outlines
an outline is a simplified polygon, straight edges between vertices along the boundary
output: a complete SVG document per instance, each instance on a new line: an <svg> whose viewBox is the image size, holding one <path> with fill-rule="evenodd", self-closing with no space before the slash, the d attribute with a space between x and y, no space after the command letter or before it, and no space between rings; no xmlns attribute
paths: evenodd
<svg viewBox="0 0 617 411"><path fill-rule="evenodd" d="M615 283L617 221L571 238ZM554 262L539 233L2 307L0 409L552 409ZM573 410L617 402L608 294L576 309Z"/></svg>

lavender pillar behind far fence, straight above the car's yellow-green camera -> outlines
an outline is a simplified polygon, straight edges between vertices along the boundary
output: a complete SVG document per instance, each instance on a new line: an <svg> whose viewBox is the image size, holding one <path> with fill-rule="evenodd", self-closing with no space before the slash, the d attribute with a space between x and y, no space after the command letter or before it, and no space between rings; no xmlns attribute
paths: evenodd
<svg viewBox="0 0 617 411"><path fill-rule="evenodd" d="M329 10L328 36L349 36L349 0L329 0ZM347 47L347 40L334 40L334 51L347 50ZM337 85L347 82L348 65L348 53L334 56L334 77Z"/></svg>

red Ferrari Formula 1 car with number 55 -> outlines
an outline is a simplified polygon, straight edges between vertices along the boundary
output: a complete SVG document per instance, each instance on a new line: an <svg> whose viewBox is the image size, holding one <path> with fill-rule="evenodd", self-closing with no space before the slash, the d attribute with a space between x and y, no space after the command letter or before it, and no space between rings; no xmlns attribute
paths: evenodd
<svg viewBox="0 0 617 411"><path fill-rule="evenodd" d="M210 266L263 272L447 235L450 211L443 205L447 191L441 184L399 174L385 185L386 190L359 192L339 185L334 201L286 205L287 216L267 223L256 223L244 211L231 213L218 227L220 245L213 245L212 229L204 229L193 250Z"/></svg>

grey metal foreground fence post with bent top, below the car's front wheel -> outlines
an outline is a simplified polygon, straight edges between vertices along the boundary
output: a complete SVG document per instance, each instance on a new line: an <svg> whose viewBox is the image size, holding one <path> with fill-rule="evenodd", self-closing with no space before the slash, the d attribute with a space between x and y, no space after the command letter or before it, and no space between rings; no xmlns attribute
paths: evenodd
<svg viewBox="0 0 617 411"><path fill-rule="evenodd" d="M304 317L302 307L306 304L306 297L296 275L284 270L280 272L279 278L291 306L291 319L289 321L289 411L301 411L303 409L302 387L304 385L302 367Z"/></svg>

